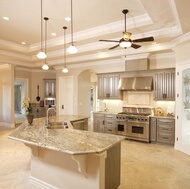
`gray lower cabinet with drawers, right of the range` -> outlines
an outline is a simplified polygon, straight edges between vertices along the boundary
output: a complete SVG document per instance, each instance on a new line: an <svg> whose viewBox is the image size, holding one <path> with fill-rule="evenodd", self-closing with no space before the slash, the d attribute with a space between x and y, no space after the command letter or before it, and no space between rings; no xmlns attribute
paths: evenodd
<svg viewBox="0 0 190 189"><path fill-rule="evenodd" d="M152 117L150 121L151 141L174 144L175 120L172 118Z"/></svg>

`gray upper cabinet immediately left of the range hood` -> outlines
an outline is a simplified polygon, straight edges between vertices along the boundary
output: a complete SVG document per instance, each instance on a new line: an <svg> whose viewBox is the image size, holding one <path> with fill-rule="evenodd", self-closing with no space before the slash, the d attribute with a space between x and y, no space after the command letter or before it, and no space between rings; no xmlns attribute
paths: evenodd
<svg viewBox="0 0 190 189"><path fill-rule="evenodd" d="M118 89L119 74L98 75L98 98L121 99L121 91Z"/></svg>

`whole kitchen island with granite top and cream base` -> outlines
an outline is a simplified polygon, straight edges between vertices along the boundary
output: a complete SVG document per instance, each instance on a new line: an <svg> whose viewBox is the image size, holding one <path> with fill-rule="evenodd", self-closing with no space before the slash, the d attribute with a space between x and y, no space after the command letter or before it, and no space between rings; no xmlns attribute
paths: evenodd
<svg viewBox="0 0 190 189"><path fill-rule="evenodd" d="M121 136L73 129L84 116L55 116L68 128L48 129L46 119L22 123L9 135L31 148L31 183L51 189L117 189L120 185Z"/></svg>

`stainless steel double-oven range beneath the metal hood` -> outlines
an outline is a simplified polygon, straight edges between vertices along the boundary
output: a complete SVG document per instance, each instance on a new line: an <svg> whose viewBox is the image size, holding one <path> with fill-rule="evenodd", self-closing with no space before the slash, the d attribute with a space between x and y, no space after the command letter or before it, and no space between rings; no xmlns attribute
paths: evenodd
<svg viewBox="0 0 190 189"><path fill-rule="evenodd" d="M123 111L116 115L116 134L150 142L150 115L154 115L154 108L123 107Z"/></svg>

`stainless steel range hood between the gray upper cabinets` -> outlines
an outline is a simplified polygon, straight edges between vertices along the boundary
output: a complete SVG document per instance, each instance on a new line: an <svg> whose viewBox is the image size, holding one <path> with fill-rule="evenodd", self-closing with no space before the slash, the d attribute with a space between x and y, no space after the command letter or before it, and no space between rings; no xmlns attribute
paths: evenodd
<svg viewBox="0 0 190 189"><path fill-rule="evenodd" d="M153 90L153 77L121 78L118 88L126 91L151 91Z"/></svg>

